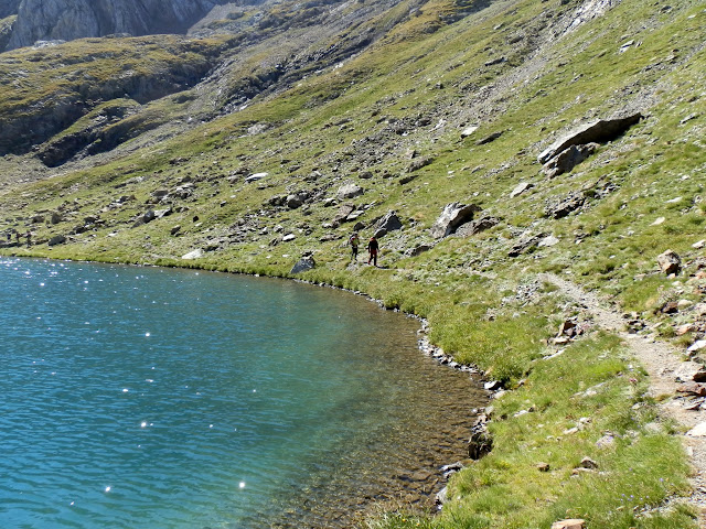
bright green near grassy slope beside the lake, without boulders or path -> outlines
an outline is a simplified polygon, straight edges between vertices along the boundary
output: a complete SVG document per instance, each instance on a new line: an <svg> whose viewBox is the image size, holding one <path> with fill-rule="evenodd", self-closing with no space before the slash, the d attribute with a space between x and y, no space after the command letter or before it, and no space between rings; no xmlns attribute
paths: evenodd
<svg viewBox="0 0 706 529"><path fill-rule="evenodd" d="M558 21L575 2L502 2L436 33L427 28L448 7L428 4L371 52L279 97L122 160L6 193L0 228L25 230L22 222L7 219L63 209L66 220L32 226L35 239L46 239L99 214L105 227L67 245L15 252L276 276L287 276L303 251L313 250L318 267L306 279L362 290L426 316L435 343L515 389L494 402L493 452L453 479L454 500L441 516L387 515L374 527L548 528L563 517L585 517L589 527L691 527L685 509L653 509L686 490L687 471L672 427L659 422L644 397L642 371L601 334L544 360L553 352L545 339L579 309L535 280L538 271L566 273L660 330L672 323L655 314L665 300L703 299L698 280L684 276L675 284L654 273L655 258L667 247L685 261L699 257L692 244L704 238L706 218L706 13L697 1L681 3L662 10L623 0L564 36ZM553 41L543 40L552 34ZM635 44L621 52L628 41ZM500 56L507 61L485 66ZM536 155L556 134L624 109L642 110L646 119L568 175L547 181L538 172ZM429 125L414 125L422 118ZM249 134L254 123L267 130ZM392 131L399 123L407 123L406 134ZM471 123L479 130L461 139L461 128ZM475 144L496 131L503 134L494 142ZM434 162L403 185L410 149ZM364 170L373 177L361 179ZM227 180L261 171L269 176L258 184ZM314 171L321 176L312 177ZM185 177L196 183L193 197L176 204L188 210L130 227L152 191ZM558 220L544 213L547 202L595 190L600 179L612 191L589 191L578 213ZM267 204L272 195L301 190L333 196L347 181L366 190L347 201L368 206L361 222L395 209L405 223L402 235L382 239L383 269L349 266L344 242L352 225L325 226L336 207ZM534 187L511 199L518 182ZM107 208L120 195L136 198ZM502 222L406 257L405 249L430 240L427 228L453 201L478 203ZM657 217L665 220L653 225ZM244 237L238 224L253 229ZM170 236L175 225L179 237ZM525 231L553 234L559 244L509 258ZM288 233L296 240L274 245ZM197 261L179 258L208 247L217 249ZM526 410L532 412L516 414ZM578 433L565 433L575 425ZM598 447L606 432L616 441ZM573 476L586 455L600 472ZM550 472L539 473L538 462L549 463Z"/></svg>

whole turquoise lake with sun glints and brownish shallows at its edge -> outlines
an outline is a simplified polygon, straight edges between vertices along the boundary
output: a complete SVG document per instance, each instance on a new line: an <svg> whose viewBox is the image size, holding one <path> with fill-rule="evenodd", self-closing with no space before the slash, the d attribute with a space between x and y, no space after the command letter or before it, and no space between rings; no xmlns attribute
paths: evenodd
<svg viewBox="0 0 706 529"><path fill-rule="evenodd" d="M0 527L350 527L440 488L482 406L352 294L8 258L0 284Z"/></svg>

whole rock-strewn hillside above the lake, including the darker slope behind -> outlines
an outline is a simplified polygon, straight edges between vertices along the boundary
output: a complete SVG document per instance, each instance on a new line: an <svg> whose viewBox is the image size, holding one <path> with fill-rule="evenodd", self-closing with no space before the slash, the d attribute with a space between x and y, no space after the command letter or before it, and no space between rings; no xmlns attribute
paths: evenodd
<svg viewBox="0 0 706 529"><path fill-rule="evenodd" d="M440 517L371 527L696 527L644 371L543 278L706 360L705 28L698 0L313 0L7 52L0 250L300 278L426 317L443 361L509 391Z"/></svg>

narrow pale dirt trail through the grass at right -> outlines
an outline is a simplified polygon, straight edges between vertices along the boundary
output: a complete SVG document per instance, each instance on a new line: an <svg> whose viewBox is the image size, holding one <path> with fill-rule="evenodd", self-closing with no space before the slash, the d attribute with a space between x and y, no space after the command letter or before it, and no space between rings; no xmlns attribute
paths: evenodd
<svg viewBox="0 0 706 529"><path fill-rule="evenodd" d="M625 321L618 311L570 281L552 273L543 273L539 278L574 299L595 317L599 326L613 331L621 337L650 375L650 392L653 397L676 395L676 388L682 382L676 381L675 374L687 367L687 364L693 364L683 361L682 352L670 344L628 333ZM682 435L694 468L693 493L687 503L698 512L698 527L706 528L706 410L688 410L681 399L664 399L661 407L666 415L688 430Z"/></svg>

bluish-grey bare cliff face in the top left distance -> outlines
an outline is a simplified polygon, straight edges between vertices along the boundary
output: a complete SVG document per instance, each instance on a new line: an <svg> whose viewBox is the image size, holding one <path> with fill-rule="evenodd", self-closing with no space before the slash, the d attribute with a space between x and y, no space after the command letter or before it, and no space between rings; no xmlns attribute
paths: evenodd
<svg viewBox="0 0 706 529"><path fill-rule="evenodd" d="M184 33L220 0L17 0L0 3L18 19L6 50L36 41L128 33Z"/></svg>

